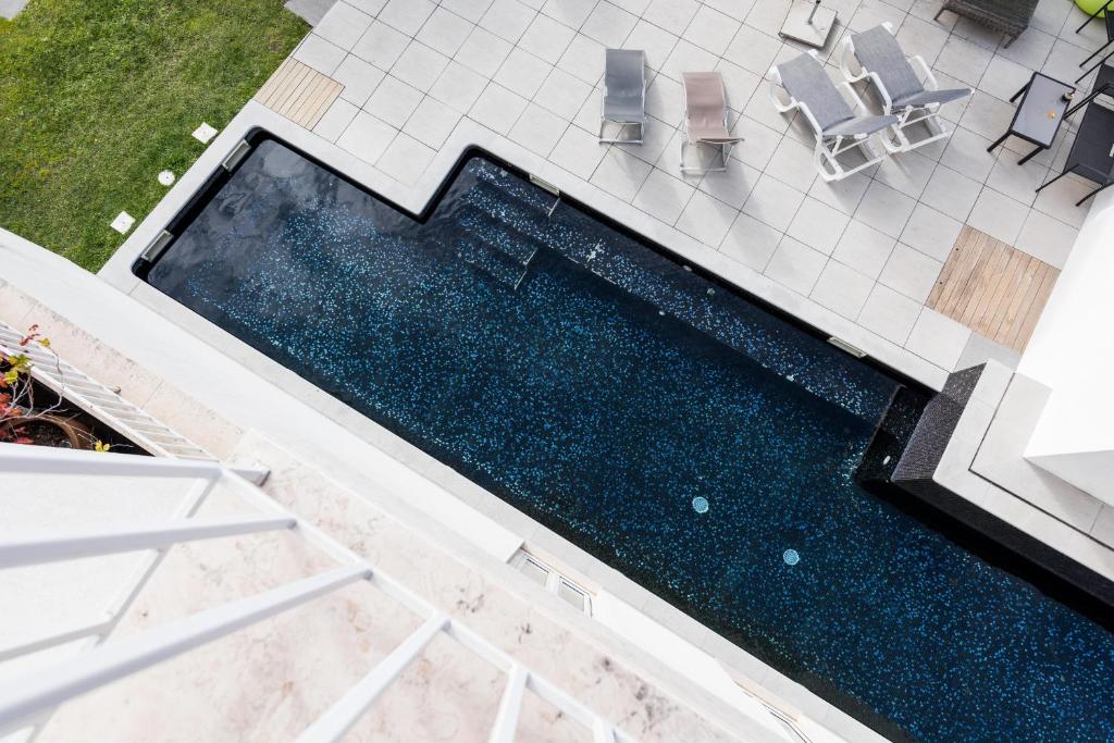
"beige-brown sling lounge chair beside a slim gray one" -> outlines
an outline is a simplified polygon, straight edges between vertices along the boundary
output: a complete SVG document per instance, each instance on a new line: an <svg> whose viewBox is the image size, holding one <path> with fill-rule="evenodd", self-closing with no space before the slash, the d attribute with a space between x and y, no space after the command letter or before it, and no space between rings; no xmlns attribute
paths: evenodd
<svg viewBox="0 0 1114 743"><path fill-rule="evenodd" d="M731 148L742 141L727 130L727 91L719 72L682 72L685 87L685 137L681 140L681 172L709 173L727 169ZM705 163L694 165L687 153L712 151Z"/></svg>

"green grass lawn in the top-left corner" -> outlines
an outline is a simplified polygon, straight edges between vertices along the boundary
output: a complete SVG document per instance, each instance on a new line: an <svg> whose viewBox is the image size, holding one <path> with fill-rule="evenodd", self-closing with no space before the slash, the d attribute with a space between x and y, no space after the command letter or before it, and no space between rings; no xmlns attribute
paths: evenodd
<svg viewBox="0 0 1114 743"><path fill-rule="evenodd" d="M0 227L90 271L309 30L282 0L31 0L0 19ZM0 267L2 271L2 267Z"/></svg>

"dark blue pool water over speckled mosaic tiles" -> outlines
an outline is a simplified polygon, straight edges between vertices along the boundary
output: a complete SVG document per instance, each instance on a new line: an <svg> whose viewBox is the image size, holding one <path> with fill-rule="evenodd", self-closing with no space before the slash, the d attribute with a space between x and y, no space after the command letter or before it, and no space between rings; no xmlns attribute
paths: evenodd
<svg viewBox="0 0 1114 743"><path fill-rule="evenodd" d="M1110 633L854 481L898 381L553 201L265 140L148 281L888 735L1114 740Z"/></svg>

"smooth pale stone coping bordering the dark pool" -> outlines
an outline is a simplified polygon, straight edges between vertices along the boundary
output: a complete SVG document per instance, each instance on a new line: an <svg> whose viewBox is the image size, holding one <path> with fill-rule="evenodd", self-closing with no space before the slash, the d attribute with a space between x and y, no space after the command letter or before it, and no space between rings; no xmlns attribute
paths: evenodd
<svg viewBox="0 0 1114 743"><path fill-rule="evenodd" d="M446 177L452 173L468 149L475 147L487 150L522 172L544 178L582 204L625 225L645 239L663 245L675 255L693 262L694 265L723 281L734 284L743 292L770 303L799 322L836 335L867 351L876 361L892 368L899 375L909 377L930 389L939 390L947 379L947 371L896 344L874 336L856 323L792 293L765 276L731 261L714 248L638 212L633 206L567 174L544 158L479 125L459 126L417 184L408 187L362 160L348 155L332 143L251 101L214 139L194 166L179 177L167 196L136 226L131 236L98 274L108 284L157 312L252 373L282 388L287 393L302 398L320 413L404 465L416 476L432 481L466 505L475 508L479 514L514 531L528 546L555 556L573 570L585 576L589 583L658 622L694 647L709 653L744 686L769 692L781 701L793 705L813 722L827 727L829 732L838 733L847 740L876 742L885 740L864 723L712 632L634 580L592 557L430 454L405 442L315 385L302 380L294 372L255 351L246 343L135 276L131 273L131 266L139 254L204 186L238 141L256 128L266 129L276 137L290 141L328 166L374 190L384 199L394 202L398 206L414 214L421 214L426 209L430 199L439 193Z"/></svg>

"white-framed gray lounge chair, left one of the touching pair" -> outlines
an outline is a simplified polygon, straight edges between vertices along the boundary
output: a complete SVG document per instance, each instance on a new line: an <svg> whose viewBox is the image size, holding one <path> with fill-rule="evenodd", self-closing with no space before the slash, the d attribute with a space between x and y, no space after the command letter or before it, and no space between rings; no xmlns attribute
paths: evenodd
<svg viewBox="0 0 1114 743"><path fill-rule="evenodd" d="M856 102L856 107L851 108L817 60L815 51L771 67L769 77L773 84L770 97L778 110L782 114L800 110L812 128L817 137L817 170L821 178L839 180L886 157L886 150L878 151L871 146L871 139L873 135L896 126L898 118L857 116L856 111L866 109L862 99L850 82L841 82L840 86ZM850 159L852 154L859 162L848 167L840 158Z"/></svg>

